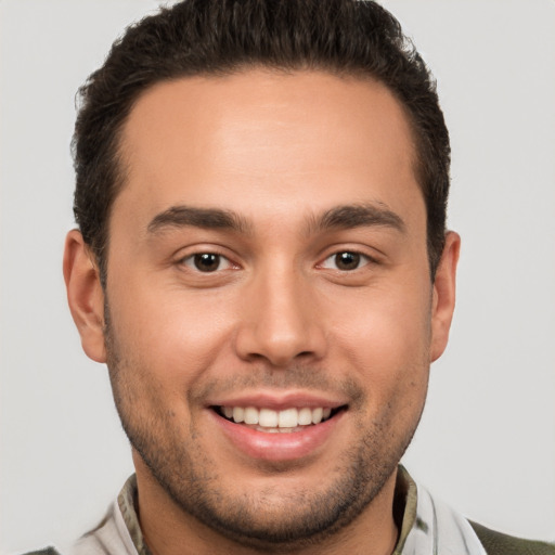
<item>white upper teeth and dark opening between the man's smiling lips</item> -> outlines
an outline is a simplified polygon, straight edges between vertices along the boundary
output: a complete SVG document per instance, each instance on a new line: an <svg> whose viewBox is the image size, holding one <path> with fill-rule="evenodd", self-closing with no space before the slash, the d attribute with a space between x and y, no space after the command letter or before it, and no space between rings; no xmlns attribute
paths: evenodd
<svg viewBox="0 0 555 555"><path fill-rule="evenodd" d="M241 424L257 431L267 434L287 434L302 431L333 418L347 409L347 405L335 409L326 406L288 408L281 411L258 409L256 406L212 406L221 417L234 424Z"/></svg>

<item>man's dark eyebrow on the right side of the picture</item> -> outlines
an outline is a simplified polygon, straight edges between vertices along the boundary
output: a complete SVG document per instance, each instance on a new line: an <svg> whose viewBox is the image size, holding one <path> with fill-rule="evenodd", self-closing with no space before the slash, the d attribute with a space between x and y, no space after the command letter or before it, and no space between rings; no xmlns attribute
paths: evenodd
<svg viewBox="0 0 555 555"><path fill-rule="evenodd" d="M380 204L343 205L326 210L309 221L308 233L326 230L382 227L406 232L402 218Z"/></svg>

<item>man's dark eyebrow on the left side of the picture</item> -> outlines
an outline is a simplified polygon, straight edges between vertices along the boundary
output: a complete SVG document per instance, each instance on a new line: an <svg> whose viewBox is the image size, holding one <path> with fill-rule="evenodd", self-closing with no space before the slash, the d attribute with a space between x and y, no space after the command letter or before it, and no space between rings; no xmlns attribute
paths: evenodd
<svg viewBox="0 0 555 555"><path fill-rule="evenodd" d="M231 210L172 206L156 215L149 223L149 233L158 234L169 229L195 227L209 230L231 230L247 233L249 223Z"/></svg>

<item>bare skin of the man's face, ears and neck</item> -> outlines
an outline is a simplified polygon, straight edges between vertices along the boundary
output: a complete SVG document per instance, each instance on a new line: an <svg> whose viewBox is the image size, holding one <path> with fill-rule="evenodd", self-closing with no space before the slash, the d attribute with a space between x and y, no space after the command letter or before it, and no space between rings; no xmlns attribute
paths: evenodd
<svg viewBox="0 0 555 555"><path fill-rule="evenodd" d="M433 283L400 104L318 72L188 78L139 99L121 152L106 291L77 231L64 273L83 349L108 363L153 552L391 553L396 468L447 345L460 247L449 233ZM184 206L241 225L184 224ZM345 206L364 222L323 218ZM195 267L203 253L216 271ZM340 253L362 256L345 269ZM346 410L301 455L251 456L210 405L256 396Z"/></svg>

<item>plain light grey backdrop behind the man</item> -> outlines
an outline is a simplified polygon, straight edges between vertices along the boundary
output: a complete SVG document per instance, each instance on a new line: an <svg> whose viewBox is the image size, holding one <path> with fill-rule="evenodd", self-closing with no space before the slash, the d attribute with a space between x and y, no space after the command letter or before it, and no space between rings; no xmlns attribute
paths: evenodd
<svg viewBox="0 0 555 555"><path fill-rule="evenodd" d="M438 78L463 237L451 343L404 463L459 511L555 540L555 2L388 0ZM66 546L132 472L66 308L74 95L149 0L0 1L0 552Z"/></svg>

